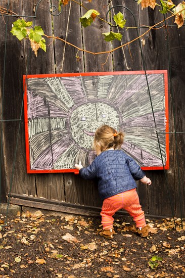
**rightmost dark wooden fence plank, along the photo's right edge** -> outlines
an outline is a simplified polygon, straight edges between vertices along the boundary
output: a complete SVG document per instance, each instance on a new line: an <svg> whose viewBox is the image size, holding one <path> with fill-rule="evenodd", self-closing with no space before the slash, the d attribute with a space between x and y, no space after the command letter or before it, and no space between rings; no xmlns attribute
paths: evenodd
<svg viewBox="0 0 185 278"><path fill-rule="evenodd" d="M178 1L174 2L178 4ZM171 104L172 104L172 117L174 113L173 131L184 132L185 131L185 108L184 108L184 71L185 71L185 27L181 28L169 27L167 30L169 40L169 59L170 59L170 71L171 71ZM175 138L176 137L176 138ZM176 136L173 134L174 145L174 182L175 182L175 212L178 217L185 216L185 204L184 204L184 144L185 133L178 133Z"/></svg>

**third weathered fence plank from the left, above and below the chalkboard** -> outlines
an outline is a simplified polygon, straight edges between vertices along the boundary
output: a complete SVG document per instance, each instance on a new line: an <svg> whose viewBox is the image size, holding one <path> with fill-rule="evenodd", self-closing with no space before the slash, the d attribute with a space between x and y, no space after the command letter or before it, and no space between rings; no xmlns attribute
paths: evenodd
<svg viewBox="0 0 185 278"><path fill-rule="evenodd" d="M53 1L53 5L56 2ZM79 24L80 6L70 2L62 6L62 13L54 16L54 36L69 41L82 49L82 33ZM79 56L77 59L76 56ZM71 45L56 39L55 40L55 61L57 73L83 72L83 53ZM69 203L85 204L82 190L83 181L74 173L64 173L65 201ZM91 203L90 203L91 204Z"/></svg>

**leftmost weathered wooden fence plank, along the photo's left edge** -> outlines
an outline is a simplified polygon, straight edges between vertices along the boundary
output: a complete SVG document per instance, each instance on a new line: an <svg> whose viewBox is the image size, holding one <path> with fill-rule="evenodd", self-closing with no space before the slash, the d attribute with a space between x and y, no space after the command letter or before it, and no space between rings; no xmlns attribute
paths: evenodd
<svg viewBox="0 0 185 278"><path fill-rule="evenodd" d="M1 6L7 8L7 1L1 1ZM17 14L22 14L22 2L18 0L9 1L8 8ZM4 122L4 165L8 190L11 189L12 192L19 192L20 194L34 195L34 177L26 174L24 123L23 114L21 115L22 75L25 72L26 63L24 42L20 42L10 33L12 23L16 19L16 17L0 17L1 100L4 99L2 117L6 120L19 120L21 118L20 125L19 121ZM5 80L3 80L4 74Z"/></svg>

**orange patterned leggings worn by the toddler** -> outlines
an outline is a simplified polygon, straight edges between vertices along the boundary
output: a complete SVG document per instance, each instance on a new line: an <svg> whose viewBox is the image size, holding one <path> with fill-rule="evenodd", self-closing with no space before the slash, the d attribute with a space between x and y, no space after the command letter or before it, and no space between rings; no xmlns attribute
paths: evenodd
<svg viewBox="0 0 185 278"><path fill-rule="evenodd" d="M104 200L101 216L103 229L112 229L116 211L124 209L135 221L136 227L146 226L144 211L136 189L131 189Z"/></svg>

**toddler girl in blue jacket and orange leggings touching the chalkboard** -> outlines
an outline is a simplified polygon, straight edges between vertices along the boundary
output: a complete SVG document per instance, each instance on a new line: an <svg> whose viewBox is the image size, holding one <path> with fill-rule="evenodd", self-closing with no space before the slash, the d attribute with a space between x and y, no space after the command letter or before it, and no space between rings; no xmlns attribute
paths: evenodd
<svg viewBox="0 0 185 278"><path fill-rule="evenodd" d="M121 150L123 137L122 132L117 132L108 125L101 126L94 139L94 149L98 156L86 168L75 164L81 177L98 178L98 190L103 200L103 231L100 235L107 239L113 238L113 215L120 209L126 210L133 217L138 234L148 236L148 226L136 193L135 180L145 184L152 182L141 167Z"/></svg>

